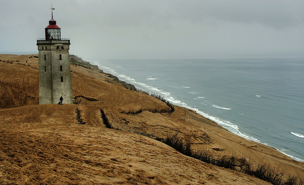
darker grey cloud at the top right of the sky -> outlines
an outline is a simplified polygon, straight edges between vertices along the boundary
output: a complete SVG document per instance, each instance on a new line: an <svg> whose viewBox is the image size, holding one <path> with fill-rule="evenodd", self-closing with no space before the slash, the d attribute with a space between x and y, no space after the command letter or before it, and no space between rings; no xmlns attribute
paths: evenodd
<svg viewBox="0 0 304 185"><path fill-rule="evenodd" d="M192 21L216 18L220 21L260 23L278 29L304 25L303 1L182 1L176 9L181 18Z"/></svg>

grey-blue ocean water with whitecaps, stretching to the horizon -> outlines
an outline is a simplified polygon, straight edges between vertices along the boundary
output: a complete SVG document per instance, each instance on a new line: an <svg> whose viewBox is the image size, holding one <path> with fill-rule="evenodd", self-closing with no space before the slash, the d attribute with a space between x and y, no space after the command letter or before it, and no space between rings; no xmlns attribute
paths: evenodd
<svg viewBox="0 0 304 185"><path fill-rule="evenodd" d="M137 89L304 161L304 59L86 59Z"/></svg>

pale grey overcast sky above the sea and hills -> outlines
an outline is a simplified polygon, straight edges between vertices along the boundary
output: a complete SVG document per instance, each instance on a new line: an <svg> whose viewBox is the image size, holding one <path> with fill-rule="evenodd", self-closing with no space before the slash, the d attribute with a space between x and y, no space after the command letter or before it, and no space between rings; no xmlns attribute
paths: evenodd
<svg viewBox="0 0 304 185"><path fill-rule="evenodd" d="M83 58L304 56L303 0L0 0L0 53L38 53L51 3Z"/></svg>

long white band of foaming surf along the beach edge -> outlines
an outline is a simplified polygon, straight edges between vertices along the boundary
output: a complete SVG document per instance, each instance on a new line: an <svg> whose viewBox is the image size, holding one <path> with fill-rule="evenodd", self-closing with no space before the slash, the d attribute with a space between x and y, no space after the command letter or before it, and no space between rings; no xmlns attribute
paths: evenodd
<svg viewBox="0 0 304 185"><path fill-rule="evenodd" d="M102 66L100 64L98 64L98 62L96 61L93 61L93 60L90 60L90 59L85 59L86 61L89 61L89 62L94 62L94 65L97 65L98 67L102 67L103 69L107 69L109 70L109 72L115 74L116 76L119 76L121 78L123 78L123 81L127 81L128 83L130 84L138 84L139 86L143 86L144 88L147 88L147 89L152 89L154 91L156 91L157 93L160 93L162 96L164 96L166 99L168 99L168 101L170 101L171 103L173 103L174 105L177 105L177 106L181 106L181 107L184 107L184 108L187 108L187 109L191 109L191 110L194 110L196 113L204 116L205 118L207 119L210 119L214 122L216 122L217 124L219 124L220 126L222 126L223 128L227 129L229 132L237 135L237 136L241 136L243 137L244 139L246 140L251 140L251 141L254 141L254 142L257 142L257 143L260 143L260 144L263 144L265 146L269 146L271 148L274 148L275 150L277 150L278 152L290 157L291 159L295 160L295 161L299 161L299 162L304 162L304 159L300 159L298 157L295 157L293 155L290 155L288 153L285 153L284 152L284 149L277 149L276 147L274 146L271 146L269 145L268 143L265 143L265 142L262 142L261 140L258 140L252 136L247 136L246 134L244 133L241 133L238 129L238 125L235 125L233 123L231 123L230 121L226 121L226 120L223 120L223 119L220 119L220 118L217 118L217 117L214 117L214 116L210 116L208 113L204 113L202 111L200 111L199 109L197 108L193 108L191 105L188 105L187 103L184 103L180 100L177 100L175 99L174 97L170 96L172 95L171 93L168 93L168 92L165 92L164 90L161 90L157 87L153 87L153 86L150 86L150 85L147 85L145 83L142 83L142 82L138 82L136 81L134 78L132 77L129 77L129 76L126 76L126 75L122 75L122 74L119 74L118 72L115 71L115 69L111 69L109 67L106 67L106 66ZM142 89L138 86L135 86L137 89ZM184 88L188 88L188 87L184 87ZM142 89L142 90L147 90L147 89ZM148 92L150 93L155 93L155 92L151 92L150 90L147 90Z"/></svg>

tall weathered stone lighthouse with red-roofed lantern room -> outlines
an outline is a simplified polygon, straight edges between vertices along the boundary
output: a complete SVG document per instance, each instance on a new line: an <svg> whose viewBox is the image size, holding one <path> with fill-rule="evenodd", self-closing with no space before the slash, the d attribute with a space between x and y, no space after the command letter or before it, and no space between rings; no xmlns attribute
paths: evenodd
<svg viewBox="0 0 304 185"><path fill-rule="evenodd" d="M39 51L39 104L73 103L70 39L61 39L60 27L53 18L45 28L45 39L37 39Z"/></svg>

